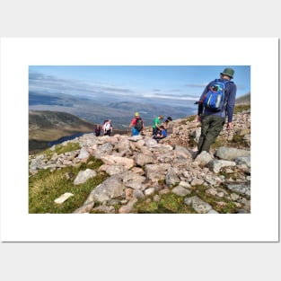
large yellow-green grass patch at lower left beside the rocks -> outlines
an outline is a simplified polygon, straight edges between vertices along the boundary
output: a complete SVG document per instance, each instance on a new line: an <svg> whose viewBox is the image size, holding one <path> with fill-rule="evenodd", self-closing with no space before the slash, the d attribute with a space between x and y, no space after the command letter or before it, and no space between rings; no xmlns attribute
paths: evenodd
<svg viewBox="0 0 281 281"><path fill-rule="evenodd" d="M92 162L91 164L88 164ZM90 157L87 163L83 163L80 168L68 166L57 171L40 170L37 174L30 177L29 180L29 213L30 214L69 214L75 209L83 206L83 202L88 198L92 189L106 180L106 173L98 175L85 183L74 185L73 180L79 171L86 168L97 169L101 166L101 160ZM74 177L66 180L66 172L71 172ZM57 204L55 199L65 192L73 193L74 196L68 198L63 204Z"/></svg>

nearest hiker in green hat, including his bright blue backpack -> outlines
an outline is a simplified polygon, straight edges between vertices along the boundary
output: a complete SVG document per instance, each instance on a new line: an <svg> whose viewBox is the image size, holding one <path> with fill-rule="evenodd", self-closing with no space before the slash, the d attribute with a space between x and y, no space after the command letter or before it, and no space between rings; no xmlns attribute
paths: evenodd
<svg viewBox="0 0 281 281"><path fill-rule="evenodd" d="M202 151L209 152L210 146L215 143L216 137L224 127L226 116L226 129L233 128L233 110L236 96L236 84L231 81L233 75L233 68L225 68L219 79L215 79L206 85L200 100L196 102L198 103L197 120L201 122L201 136L198 141L197 155ZM221 89L224 89L224 91L221 91ZM221 101L216 99L215 102L211 102L215 97L215 92L224 92L223 98L220 98Z"/></svg>

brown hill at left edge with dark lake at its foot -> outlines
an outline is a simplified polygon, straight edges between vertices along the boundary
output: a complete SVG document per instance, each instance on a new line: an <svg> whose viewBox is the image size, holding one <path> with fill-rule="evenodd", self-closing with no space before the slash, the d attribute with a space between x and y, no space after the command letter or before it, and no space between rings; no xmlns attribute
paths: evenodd
<svg viewBox="0 0 281 281"><path fill-rule="evenodd" d="M29 112L29 149L31 152L48 147L50 141L62 136L93 131L94 124L66 112Z"/></svg>

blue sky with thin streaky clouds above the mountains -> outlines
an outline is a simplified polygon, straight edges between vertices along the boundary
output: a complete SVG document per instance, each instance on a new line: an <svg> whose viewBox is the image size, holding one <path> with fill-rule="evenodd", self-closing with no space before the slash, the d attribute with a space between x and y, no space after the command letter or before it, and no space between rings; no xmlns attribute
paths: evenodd
<svg viewBox="0 0 281 281"><path fill-rule="evenodd" d="M30 66L30 91L99 99L103 94L197 101L225 67L235 71L236 97L250 92L250 66Z"/></svg>

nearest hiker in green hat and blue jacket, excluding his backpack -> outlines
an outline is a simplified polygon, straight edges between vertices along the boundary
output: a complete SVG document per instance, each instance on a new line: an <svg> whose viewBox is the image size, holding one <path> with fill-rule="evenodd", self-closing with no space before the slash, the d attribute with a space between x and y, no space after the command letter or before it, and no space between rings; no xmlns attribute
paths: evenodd
<svg viewBox="0 0 281 281"><path fill-rule="evenodd" d="M231 81L233 79L233 75L233 68L225 68L224 71L220 74L219 81L228 82L225 83L224 106L222 110L208 110L203 106L203 103L200 102L203 101L206 92L209 91L209 88L214 83L214 81L206 85L206 88L202 93L200 100L198 101L197 120L201 122L201 135L198 141L197 155L202 151L206 151L207 153L209 152L211 145L215 143L216 137L220 134L221 130L224 127L226 117L226 129L233 128L233 110L235 107L236 99L236 84Z"/></svg>

